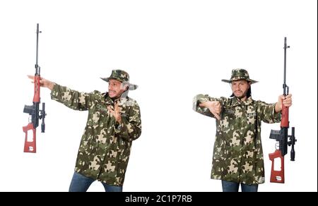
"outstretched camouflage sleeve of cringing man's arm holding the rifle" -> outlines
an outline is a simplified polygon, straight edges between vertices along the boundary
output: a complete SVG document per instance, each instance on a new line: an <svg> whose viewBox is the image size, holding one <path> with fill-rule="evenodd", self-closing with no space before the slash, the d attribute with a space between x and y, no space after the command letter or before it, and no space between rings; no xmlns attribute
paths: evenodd
<svg viewBox="0 0 318 206"><path fill-rule="evenodd" d="M51 99L61 102L66 107L75 110L88 110L92 106L93 93L77 92L68 87L55 84L51 92Z"/></svg>

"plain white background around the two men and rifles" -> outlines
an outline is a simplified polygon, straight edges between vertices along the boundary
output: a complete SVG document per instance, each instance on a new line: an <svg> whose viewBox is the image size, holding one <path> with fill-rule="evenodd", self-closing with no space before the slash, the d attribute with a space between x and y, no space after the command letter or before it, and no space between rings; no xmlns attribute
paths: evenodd
<svg viewBox="0 0 318 206"><path fill-rule="evenodd" d="M192 97L231 94L221 82L246 68L259 83L252 97L276 102L282 93L283 37L290 126L296 161L285 156L285 184L269 183L275 141L262 125L266 183L259 191L317 191L317 1L1 1L0 191L67 191L87 111L50 99L37 153L23 153L24 104L32 104L35 28L40 23L41 75L74 90L107 90L114 68L139 89L143 131L132 146L124 191L220 191L211 180L214 119L192 111ZM102 191L93 183L89 191Z"/></svg>

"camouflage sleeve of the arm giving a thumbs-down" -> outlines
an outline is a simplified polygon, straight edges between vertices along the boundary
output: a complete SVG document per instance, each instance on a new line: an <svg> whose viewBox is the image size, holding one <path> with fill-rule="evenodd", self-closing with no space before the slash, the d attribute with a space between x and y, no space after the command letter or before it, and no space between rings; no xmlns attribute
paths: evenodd
<svg viewBox="0 0 318 206"><path fill-rule="evenodd" d="M211 113L211 111L208 108L199 106L200 103L208 102L208 101L218 101L218 102L220 102L220 104L222 106L224 99L223 98L218 99L218 98L214 98L214 97L209 97L208 95L201 95L201 94L196 95L193 98L193 108L192 109L194 111L198 112L199 114L203 114L203 115L215 118L215 116Z"/></svg>

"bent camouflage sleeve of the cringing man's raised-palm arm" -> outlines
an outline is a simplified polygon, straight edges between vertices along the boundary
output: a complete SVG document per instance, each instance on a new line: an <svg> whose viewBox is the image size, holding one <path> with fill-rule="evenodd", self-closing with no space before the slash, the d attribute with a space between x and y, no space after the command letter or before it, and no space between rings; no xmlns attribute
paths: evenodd
<svg viewBox="0 0 318 206"><path fill-rule="evenodd" d="M129 109L128 116L122 116L122 123L116 123L115 135L124 140L136 140L141 135L141 114L137 102Z"/></svg>

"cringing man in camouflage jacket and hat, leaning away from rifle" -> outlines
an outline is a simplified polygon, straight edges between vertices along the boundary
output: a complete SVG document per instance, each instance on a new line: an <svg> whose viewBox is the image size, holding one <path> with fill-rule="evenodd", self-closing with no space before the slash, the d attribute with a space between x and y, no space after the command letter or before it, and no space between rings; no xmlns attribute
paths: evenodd
<svg viewBox="0 0 318 206"><path fill-rule="evenodd" d="M52 99L71 109L88 110L70 191L86 191L95 180L101 181L105 190L122 191L131 143L141 135L139 105L127 96L137 85L129 83L128 73L121 70L113 70L102 80L109 83L106 93L77 92L40 80L43 87L52 90Z"/></svg>

